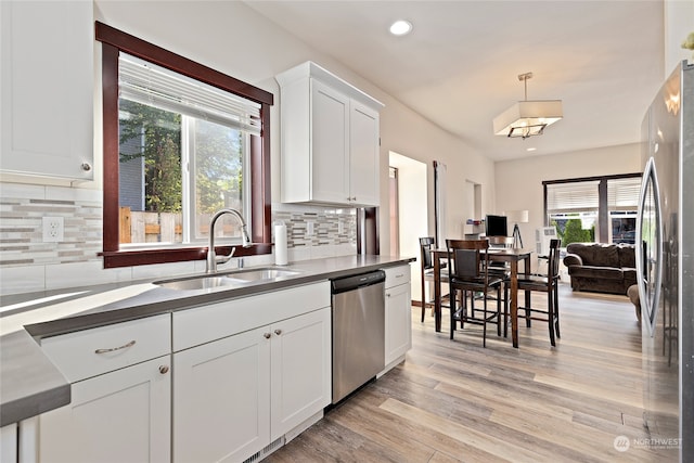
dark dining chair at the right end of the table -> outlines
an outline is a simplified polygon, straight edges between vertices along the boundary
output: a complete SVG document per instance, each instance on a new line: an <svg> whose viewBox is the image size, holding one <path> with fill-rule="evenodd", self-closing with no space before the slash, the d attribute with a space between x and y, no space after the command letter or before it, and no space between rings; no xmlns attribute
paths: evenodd
<svg viewBox="0 0 694 463"><path fill-rule="evenodd" d="M558 282L560 282L560 240L550 241L550 253L548 256L548 272L544 275L530 274L518 275L518 291L537 291L547 293L547 307L535 308L532 307L532 298L530 298L530 307L518 307L518 313L520 310L525 310L526 326L530 326L531 320L538 320L548 322L550 329L550 343L552 346L556 346L554 336L560 335L560 296L558 296ZM530 293L532 294L532 293ZM520 318L520 316L518 316Z"/></svg>

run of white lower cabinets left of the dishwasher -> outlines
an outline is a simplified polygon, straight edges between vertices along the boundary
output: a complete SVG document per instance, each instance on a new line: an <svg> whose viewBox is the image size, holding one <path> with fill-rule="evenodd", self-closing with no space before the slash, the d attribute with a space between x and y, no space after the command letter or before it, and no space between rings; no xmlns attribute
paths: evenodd
<svg viewBox="0 0 694 463"><path fill-rule="evenodd" d="M3 427L2 461L260 459L332 401L330 304L323 281L43 338L72 401L23 422L27 459Z"/></svg>

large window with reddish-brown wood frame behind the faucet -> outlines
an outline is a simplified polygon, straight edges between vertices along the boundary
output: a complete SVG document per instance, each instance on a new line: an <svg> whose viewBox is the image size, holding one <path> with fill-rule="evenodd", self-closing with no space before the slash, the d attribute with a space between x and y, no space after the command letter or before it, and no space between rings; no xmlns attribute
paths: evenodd
<svg viewBox="0 0 694 463"><path fill-rule="evenodd" d="M97 23L102 42L104 267L203 259L209 218L246 218L270 253L272 94ZM241 242L218 227L218 252ZM224 249L227 247L227 249Z"/></svg>

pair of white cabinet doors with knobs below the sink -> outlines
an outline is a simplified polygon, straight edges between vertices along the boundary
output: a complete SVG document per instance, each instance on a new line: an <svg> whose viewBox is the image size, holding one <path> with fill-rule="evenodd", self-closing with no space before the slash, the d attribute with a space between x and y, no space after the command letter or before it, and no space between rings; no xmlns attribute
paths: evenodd
<svg viewBox="0 0 694 463"><path fill-rule="evenodd" d="M174 461L239 462L331 401L330 309L174 355Z"/></svg>

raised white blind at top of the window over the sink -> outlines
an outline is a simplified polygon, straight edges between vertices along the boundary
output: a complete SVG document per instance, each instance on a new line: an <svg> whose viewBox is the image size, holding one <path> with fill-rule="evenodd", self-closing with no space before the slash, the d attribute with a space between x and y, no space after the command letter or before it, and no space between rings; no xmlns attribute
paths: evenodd
<svg viewBox="0 0 694 463"><path fill-rule="evenodd" d="M137 59L118 57L120 98L260 134L260 105Z"/></svg>

